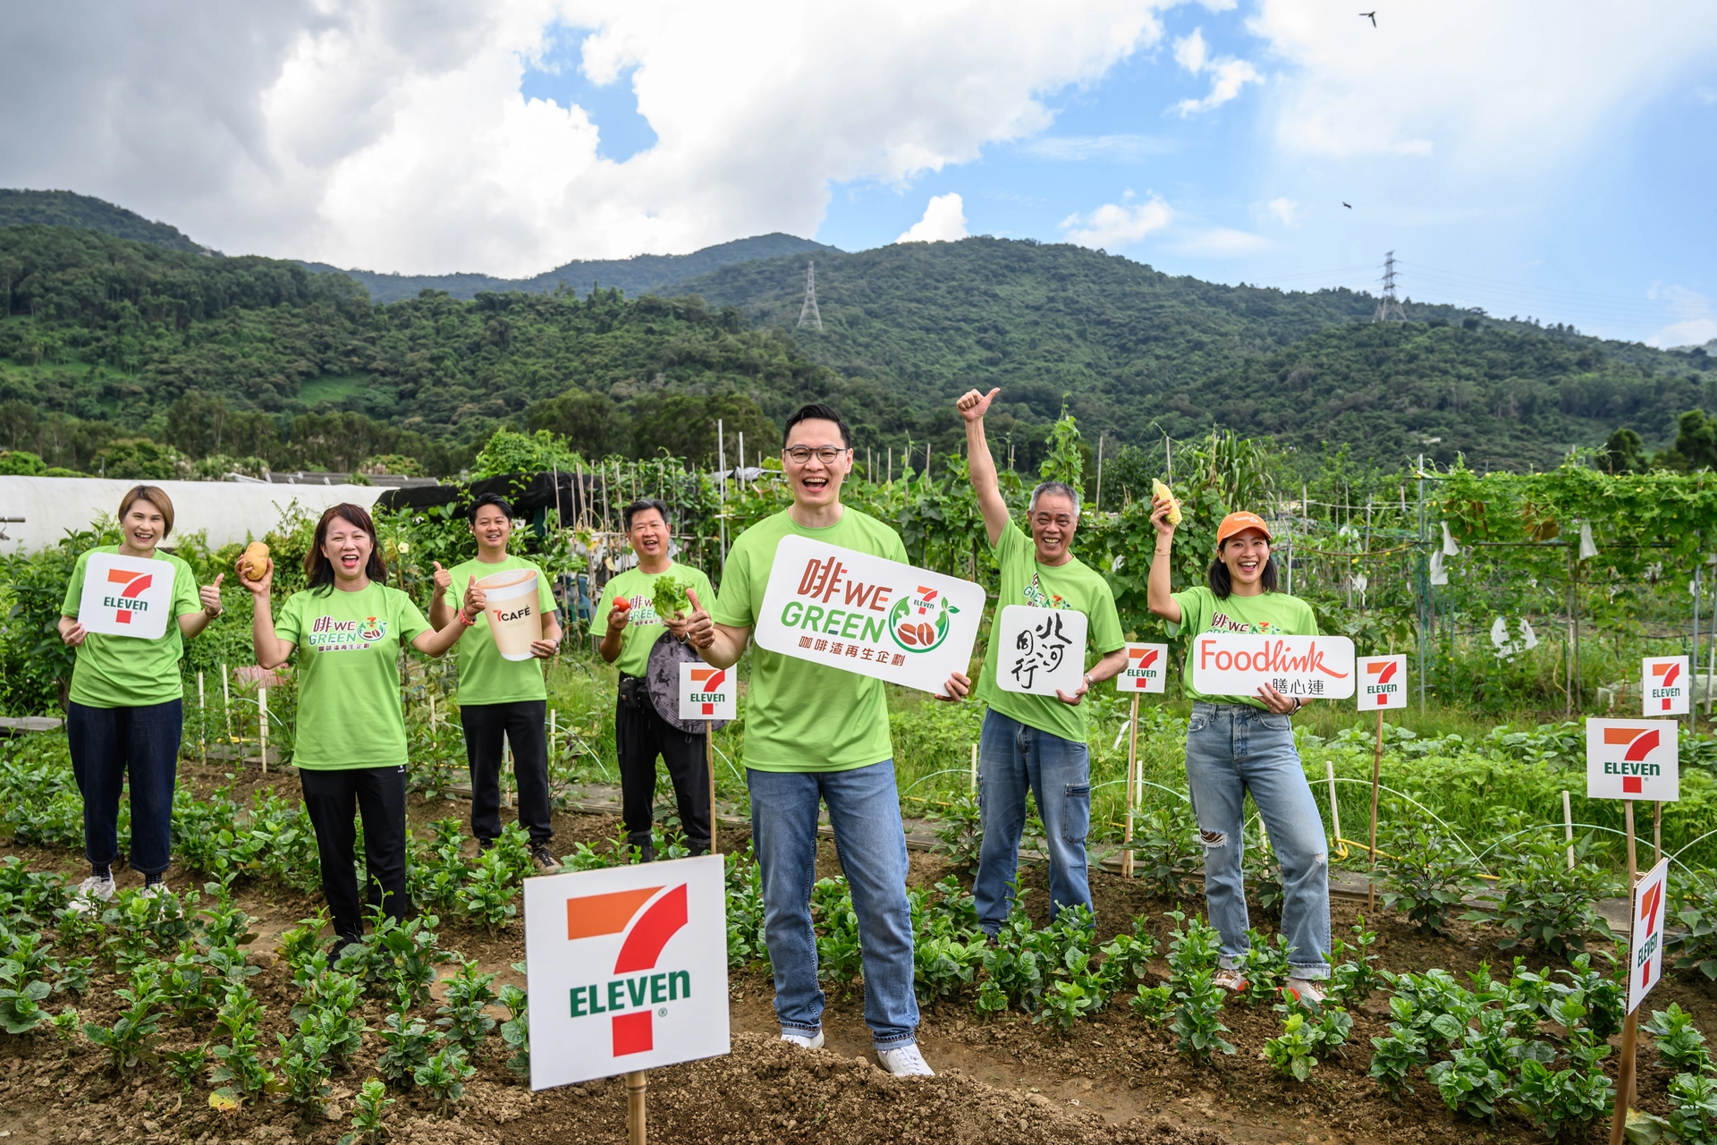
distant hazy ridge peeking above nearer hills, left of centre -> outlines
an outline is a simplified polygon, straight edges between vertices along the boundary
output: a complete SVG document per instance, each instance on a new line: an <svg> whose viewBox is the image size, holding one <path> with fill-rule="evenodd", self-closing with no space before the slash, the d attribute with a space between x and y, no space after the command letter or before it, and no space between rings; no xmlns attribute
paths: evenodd
<svg viewBox="0 0 1717 1145"><path fill-rule="evenodd" d="M673 283L697 275L754 259L773 259L792 254L819 254L834 251L821 242L797 239L780 232L735 239L690 254L637 254L628 259L573 259L534 278L493 278L489 275L381 275L367 270L345 270L326 263L306 263L309 270L349 275L364 283L374 302L416 299L421 290L446 290L455 299L474 299L484 290L527 294L555 294L565 288L584 297L594 287L618 287L620 294L635 299L640 294L661 294Z"/></svg>

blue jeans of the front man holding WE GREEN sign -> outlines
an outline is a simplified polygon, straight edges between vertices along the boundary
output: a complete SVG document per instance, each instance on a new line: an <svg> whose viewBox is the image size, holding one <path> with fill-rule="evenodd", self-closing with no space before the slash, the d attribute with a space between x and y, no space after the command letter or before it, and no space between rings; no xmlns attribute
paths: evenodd
<svg viewBox="0 0 1717 1145"><path fill-rule="evenodd" d="M810 925L822 800L858 915L864 1021L879 1051L910 1045L917 1040L919 999L912 992L907 831L900 822L895 760L821 772L747 767L745 786L752 797L752 848L762 870L764 944L774 970L781 1033L816 1037L822 1028L817 936Z"/></svg>

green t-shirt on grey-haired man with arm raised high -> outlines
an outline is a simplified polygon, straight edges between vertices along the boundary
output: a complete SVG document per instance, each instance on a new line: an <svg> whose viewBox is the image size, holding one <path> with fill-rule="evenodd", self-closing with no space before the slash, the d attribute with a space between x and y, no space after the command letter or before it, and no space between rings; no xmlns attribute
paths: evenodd
<svg viewBox="0 0 1717 1145"><path fill-rule="evenodd" d="M1037 546L1013 522L1008 522L989 551L1001 566L1001 592L996 597L998 616L1008 604L1066 608L1085 613L1085 642L1095 647L1101 656L1126 647L1121 615L1114 611L1114 592L1090 565L1077 556L1066 565L1039 565ZM979 699L1027 728L1037 728L1075 743L1085 742L1085 709L1090 704L1063 704L1054 695L1003 692L996 687L998 657L999 649L992 639L989 651L984 652L984 673L977 683Z"/></svg>

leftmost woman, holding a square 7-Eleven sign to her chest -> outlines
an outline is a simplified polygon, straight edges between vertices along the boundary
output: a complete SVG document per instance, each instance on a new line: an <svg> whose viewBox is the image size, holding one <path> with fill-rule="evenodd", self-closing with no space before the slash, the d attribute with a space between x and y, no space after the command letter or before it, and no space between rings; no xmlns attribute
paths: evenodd
<svg viewBox="0 0 1717 1145"><path fill-rule="evenodd" d="M77 649L65 704L72 774L84 797L84 857L89 877L77 888L72 910L94 910L113 898L118 858L118 798L130 778L130 869L143 874L153 896L172 862L173 783L179 779L179 736L184 730L184 682L179 661L185 640L220 616L220 582L197 587L191 565L160 544L173 530L173 501L156 486L136 486L118 503L118 544L82 553L60 604L60 639ZM89 632L79 616L84 573L96 554L160 561L160 572L139 575L108 566L113 596L98 603L108 620L132 621L151 603L167 608L167 628L153 639ZM149 597L156 597L151 601ZM101 625L106 628L106 625ZM134 627L141 627L134 625Z"/></svg>

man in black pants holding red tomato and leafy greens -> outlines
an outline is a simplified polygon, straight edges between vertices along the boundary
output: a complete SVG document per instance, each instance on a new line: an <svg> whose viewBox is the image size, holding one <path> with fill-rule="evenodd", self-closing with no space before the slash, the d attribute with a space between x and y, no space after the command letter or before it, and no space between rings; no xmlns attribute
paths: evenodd
<svg viewBox="0 0 1717 1145"><path fill-rule="evenodd" d="M687 591L699 599L713 599L714 589L701 568L676 565L668 556L673 541L668 532L668 506L661 501L634 501L622 510L627 539L639 563L606 585L596 604L596 616L608 632L599 651L603 659L620 668L620 697L615 700L615 750L620 755L620 803L627 824L627 843L644 862L656 857L651 846L651 812L656 802L656 757L668 764L673 797L680 809L680 827L694 855L709 853L709 769L704 766L706 735L680 731L656 712L644 669L649 652L663 633L680 637L685 628ZM663 579L666 580L663 582ZM661 616L656 591L678 585L675 596L687 606ZM622 604L623 601L623 604ZM673 639L670 637L670 639Z"/></svg>

